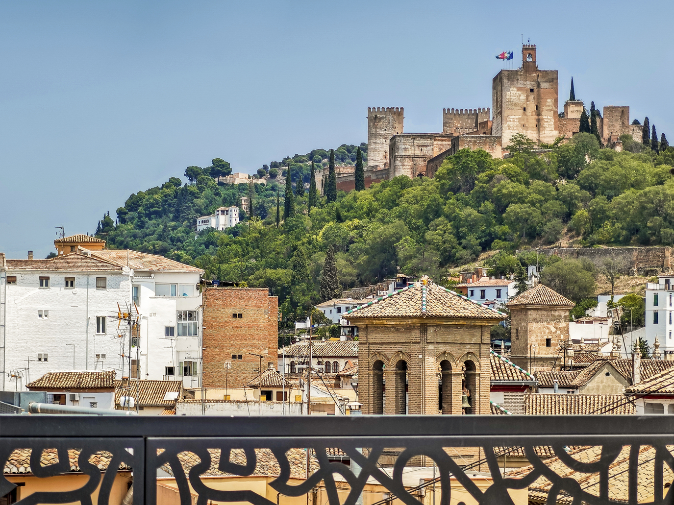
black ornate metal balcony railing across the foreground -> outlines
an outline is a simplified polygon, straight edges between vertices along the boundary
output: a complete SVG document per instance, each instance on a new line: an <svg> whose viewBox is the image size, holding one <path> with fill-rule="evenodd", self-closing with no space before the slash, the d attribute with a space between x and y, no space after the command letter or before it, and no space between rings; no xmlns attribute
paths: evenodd
<svg viewBox="0 0 674 505"><path fill-rule="evenodd" d="M106 504L117 470L124 465L133 469L136 505L162 502L158 501L158 472L173 482L175 503L184 505L205 505L210 500L303 505L303 497L307 496L308 503L309 494L313 494L314 504L355 505L366 484L373 483L379 486L379 494L369 487L365 499L368 505L393 500L405 505L449 505L456 503L458 498L452 496L458 489L463 492L461 496L470 498L461 500L485 505L513 504L514 490L528 490L524 492L525 503L526 493L530 502L548 504L674 502L674 486L667 485L674 478L674 416L667 415L123 419L3 415L0 430L0 460L5 468L0 496L14 492L11 480L16 481L13 477L18 474L8 473L7 465L15 465L16 451L20 450L25 454L30 449L30 469L24 468L24 476L30 473L35 479L49 479L72 471L73 461L77 461L79 471L90 477L76 490L54 486L49 492L22 494L20 503L26 504L91 504L92 492L99 485L97 503ZM547 447L547 452L539 450L541 446ZM583 447L593 449L577 449ZM309 448L311 455L308 479L304 478L304 460L298 465L298 453L293 452L304 448ZM476 448L477 456L466 464L466 454L471 452L468 448ZM44 466L40 459L43 450L57 454L59 462ZM73 450L79 452L75 460ZM331 459L336 452L339 457ZM532 467L505 473L499 457L515 452L526 455ZM301 452L300 458L306 454ZM106 455L106 467L94 464L95 455ZM381 463L384 455L388 455L392 468ZM557 457L553 463L551 456ZM362 470L340 463L344 458ZM269 465L270 459L274 465ZM276 477L267 484L276 500L253 490L241 490L241 486L239 490L222 485L216 489L204 475L255 475L262 464L267 465L262 473ZM404 469L410 465L433 465L436 478L410 486L404 483ZM299 477L298 468L303 474ZM570 477L574 472L586 477ZM481 484L476 476L482 479ZM432 500L430 493L421 491L431 483ZM315 498L317 489L320 500ZM291 497L302 498L293 501Z"/></svg>

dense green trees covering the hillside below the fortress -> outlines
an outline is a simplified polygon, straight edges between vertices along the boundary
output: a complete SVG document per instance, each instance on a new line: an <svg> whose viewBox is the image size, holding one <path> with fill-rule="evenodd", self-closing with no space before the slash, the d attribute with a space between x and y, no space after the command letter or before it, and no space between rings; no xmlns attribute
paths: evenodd
<svg viewBox="0 0 674 505"><path fill-rule="evenodd" d="M580 133L541 152L518 135L508 159L463 149L443 162L434 178L401 176L364 191L339 192L336 201L320 197L310 213L303 185L297 191L294 184L294 211L285 220L284 187L273 178L266 185L232 186L199 168L189 181L171 177L161 187L131 195L117 209L116 221L107 214L99 222L97 236L110 248L201 267L207 278L267 286L280 297L284 314L294 318L341 287L399 270L447 285L450 267L490 249L501 251L490 260L494 273L521 275L534 260L513 257L516 248L562 238L574 237L582 246L674 244L669 173L674 148L658 151L629 137L623 141L625 150L616 152ZM346 153L340 156L351 160L356 147L340 147ZM289 165L293 182L300 177L308 182L311 162L322 165L327 156L328 151L311 151L274 168L283 175ZM252 197L253 217L242 213L235 228L196 234L197 217L237 205L242 196ZM568 295L580 302L587 290Z"/></svg>

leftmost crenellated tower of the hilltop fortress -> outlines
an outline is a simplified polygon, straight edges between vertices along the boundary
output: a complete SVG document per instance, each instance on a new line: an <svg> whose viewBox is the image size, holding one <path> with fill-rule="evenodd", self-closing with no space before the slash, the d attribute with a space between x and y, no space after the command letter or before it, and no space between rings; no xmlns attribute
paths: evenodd
<svg viewBox="0 0 674 505"><path fill-rule="evenodd" d="M388 146L391 137L402 133L402 107L367 108L367 166L375 170L389 168Z"/></svg>

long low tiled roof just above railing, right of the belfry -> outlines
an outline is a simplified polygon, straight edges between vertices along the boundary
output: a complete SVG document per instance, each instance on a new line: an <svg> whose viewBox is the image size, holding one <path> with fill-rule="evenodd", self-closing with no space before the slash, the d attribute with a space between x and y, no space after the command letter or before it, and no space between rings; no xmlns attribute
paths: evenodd
<svg viewBox="0 0 674 505"><path fill-rule="evenodd" d="M634 405L623 395L578 395L532 393L524 397L528 415L634 414Z"/></svg>

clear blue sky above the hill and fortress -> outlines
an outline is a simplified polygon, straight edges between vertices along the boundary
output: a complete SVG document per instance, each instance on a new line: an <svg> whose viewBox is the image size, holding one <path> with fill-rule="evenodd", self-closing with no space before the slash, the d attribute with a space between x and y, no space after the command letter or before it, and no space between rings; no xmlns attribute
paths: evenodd
<svg viewBox="0 0 674 505"><path fill-rule="evenodd" d="M53 250L189 165L235 171L491 107L495 55L537 44L576 96L630 105L674 141L674 3L25 1L0 3L0 251Z"/></svg>

